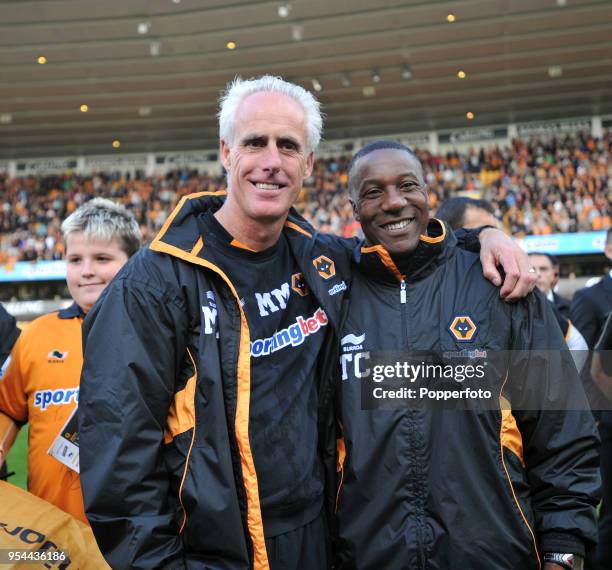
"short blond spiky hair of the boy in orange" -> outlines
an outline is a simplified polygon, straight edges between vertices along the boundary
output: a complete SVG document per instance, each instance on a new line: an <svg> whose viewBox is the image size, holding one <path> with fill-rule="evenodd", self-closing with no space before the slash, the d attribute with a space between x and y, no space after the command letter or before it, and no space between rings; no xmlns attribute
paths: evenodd
<svg viewBox="0 0 612 570"><path fill-rule="evenodd" d="M128 257L140 249L140 227L125 206L106 198L94 198L77 208L62 222L64 242L82 233L87 239L117 240Z"/></svg>

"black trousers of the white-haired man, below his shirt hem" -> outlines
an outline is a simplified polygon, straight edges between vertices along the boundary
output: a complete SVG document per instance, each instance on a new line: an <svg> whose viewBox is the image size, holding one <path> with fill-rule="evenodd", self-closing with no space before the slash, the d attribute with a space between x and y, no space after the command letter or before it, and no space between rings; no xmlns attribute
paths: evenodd
<svg viewBox="0 0 612 570"><path fill-rule="evenodd" d="M271 570L327 570L331 553L327 520L323 512L308 524L266 538Z"/></svg>

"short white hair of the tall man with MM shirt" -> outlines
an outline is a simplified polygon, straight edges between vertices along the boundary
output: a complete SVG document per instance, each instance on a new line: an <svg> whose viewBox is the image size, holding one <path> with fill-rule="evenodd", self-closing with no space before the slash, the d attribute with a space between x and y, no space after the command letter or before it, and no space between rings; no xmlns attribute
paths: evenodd
<svg viewBox="0 0 612 570"><path fill-rule="evenodd" d="M286 95L302 107L306 115L306 151L314 152L319 146L323 130L320 103L303 87L272 75L247 80L236 77L228 84L219 99L219 138L230 146L234 143L234 125L240 103L249 95L262 92Z"/></svg>

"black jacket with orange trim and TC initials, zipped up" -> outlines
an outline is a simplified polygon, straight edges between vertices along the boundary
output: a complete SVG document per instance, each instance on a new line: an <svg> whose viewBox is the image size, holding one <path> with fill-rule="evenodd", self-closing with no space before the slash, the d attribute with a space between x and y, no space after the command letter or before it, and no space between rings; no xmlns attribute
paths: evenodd
<svg viewBox="0 0 612 570"><path fill-rule="evenodd" d="M340 329L336 567L530 570L545 551L584 554L597 535L598 436L550 304L538 292L504 303L440 222L428 235L399 268L382 246L363 248L353 272ZM375 354L465 349L498 367L494 353L512 351L501 361L512 362L509 380L503 366L488 374L498 408L368 409ZM526 404L543 401L545 411Z"/></svg>

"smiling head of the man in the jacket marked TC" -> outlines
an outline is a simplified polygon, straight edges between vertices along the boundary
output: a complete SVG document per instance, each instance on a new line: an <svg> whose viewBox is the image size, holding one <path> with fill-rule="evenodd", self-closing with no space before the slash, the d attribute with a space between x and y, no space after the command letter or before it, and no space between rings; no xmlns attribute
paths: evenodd
<svg viewBox="0 0 612 570"><path fill-rule="evenodd" d="M429 221L419 161L404 150L379 149L360 158L354 169L353 209L367 244L381 244L391 255L414 251Z"/></svg>

